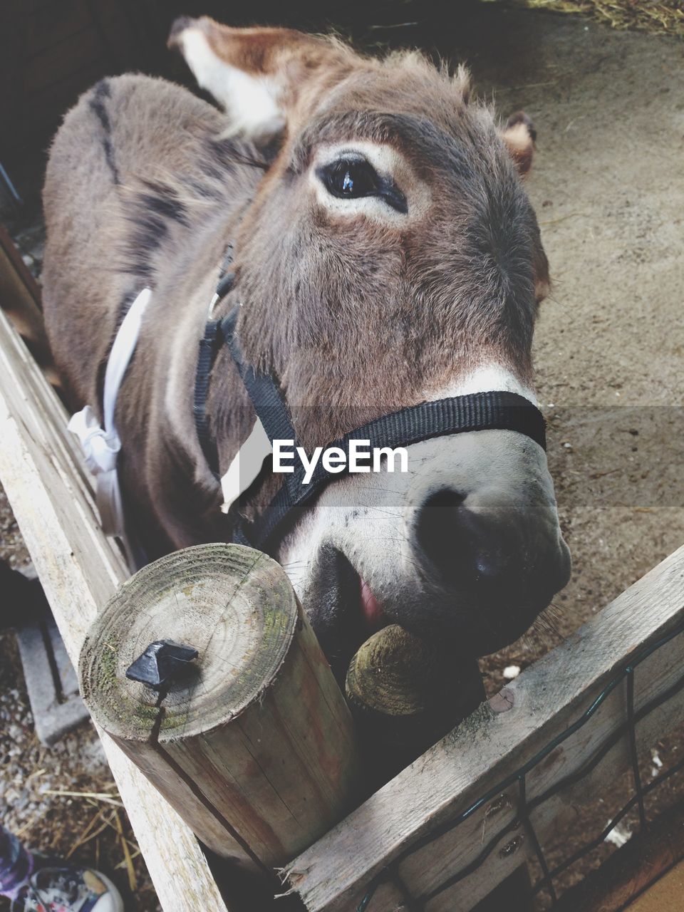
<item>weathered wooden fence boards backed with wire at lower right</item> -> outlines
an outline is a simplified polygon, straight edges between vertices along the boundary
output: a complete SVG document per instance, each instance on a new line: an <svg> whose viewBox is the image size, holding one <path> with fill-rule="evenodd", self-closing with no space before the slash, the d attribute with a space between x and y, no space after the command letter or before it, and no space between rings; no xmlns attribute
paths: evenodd
<svg viewBox="0 0 684 912"><path fill-rule="evenodd" d="M502 691L503 696L483 704L288 865L290 883L306 908L354 912L374 878L393 862L393 877L378 887L368 912L395 912L407 897L409 903L410 897L420 899L425 912L471 909L514 867L535 854L528 829L515 825L520 783L511 782L494 792L460 825L449 829L450 822L533 761L594 704L620 668L657 644L683 617L684 547L618 596L563 646L523 671ZM648 701L677 684L682 668L684 635L670 639L637 666L637 715ZM623 678L586 724L526 773L528 805L552 785L583 770L626 720L627 678ZM684 689L679 689L637 722L639 753L645 754L682 720ZM565 785L533 810L531 821L542 845L562 834L568 822L606 793L630 764L625 735L588 775ZM600 821L598 830L605 823ZM499 833L501 839L476 872L444 888ZM412 851L418 843L421 847Z"/></svg>

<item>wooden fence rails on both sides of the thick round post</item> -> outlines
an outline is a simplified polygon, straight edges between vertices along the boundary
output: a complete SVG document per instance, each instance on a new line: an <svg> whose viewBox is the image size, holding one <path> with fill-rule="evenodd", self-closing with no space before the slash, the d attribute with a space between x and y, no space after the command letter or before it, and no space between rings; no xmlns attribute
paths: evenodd
<svg viewBox="0 0 684 912"><path fill-rule="evenodd" d="M76 663L88 626L128 574L99 528L66 422L0 312L0 479ZM295 858L290 886L310 912L471 909L536 854L534 834L544 844L562 832L634 767L635 751L684 719L684 637L670 637L683 619L684 548ZM107 736L103 742L162 907L225 910L189 828Z"/></svg>

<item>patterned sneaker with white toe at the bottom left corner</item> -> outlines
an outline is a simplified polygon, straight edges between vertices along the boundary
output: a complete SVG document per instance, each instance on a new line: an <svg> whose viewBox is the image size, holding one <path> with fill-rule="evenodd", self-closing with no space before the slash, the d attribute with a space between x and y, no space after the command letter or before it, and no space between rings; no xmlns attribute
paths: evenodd
<svg viewBox="0 0 684 912"><path fill-rule="evenodd" d="M92 868L41 866L18 891L10 912L123 912L123 900L109 877Z"/></svg>

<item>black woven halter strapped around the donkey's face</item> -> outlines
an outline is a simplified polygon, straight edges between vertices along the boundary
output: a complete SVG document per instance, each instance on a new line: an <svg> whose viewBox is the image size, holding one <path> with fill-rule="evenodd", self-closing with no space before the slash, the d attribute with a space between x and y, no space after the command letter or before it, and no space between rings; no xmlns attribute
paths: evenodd
<svg viewBox="0 0 684 912"><path fill-rule="evenodd" d="M233 284L233 276L223 276L216 289L214 302L228 293ZM209 320L200 342L200 353L197 360L195 379L194 417L197 436L202 445L202 452L214 476L219 479L218 454L216 441L212 438L209 420L205 411L206 397L209 389L209 377L219 350L227 345L233 361L240 372L244 388L252 400L257 418L261 420L268 439L294 440L299 446L295 429L290 420L277 380L271 374L257 373L250 365L244 363L242 349L236 337L235 328L240 306L235 306L228 316L218 320ZM546 440L544 433L544 416L536 406L512 392L482 392L467 396L452 396L449 399L437 399L433 402L421 402L420 405L383 415L356 430L351 430L339 440L329 444L339 447L349 457L349 440L369 440L370 448L406 447L420 440L432 437L444 437L449 434L460 434L470 430L516 430L525 434L544 450ZM295 471L283 475L283 484L267 505L264 512L254 521L248 523L237 516L233 541L238 544L249 544L262 551L268 551L275 533L280 529L288 516L299 510L329 483L342 477L343 473L326 472L322 461L318 461L311 481L303 484L305 469L295 464Z"/></svg>

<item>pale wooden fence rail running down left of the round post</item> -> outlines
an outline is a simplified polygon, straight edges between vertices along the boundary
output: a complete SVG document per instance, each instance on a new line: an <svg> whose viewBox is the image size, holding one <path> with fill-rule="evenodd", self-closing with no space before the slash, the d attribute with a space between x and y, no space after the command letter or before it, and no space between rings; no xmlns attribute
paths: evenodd
<svg viewBox="0 0 684 912"><path fill-rule="evenodd" d="M0 480L78 666L88 627L129 573L99 527L66 422L66 410L0 311ZM191 830L113 741L105 735L102 742L161 906L226 912Z"/></svg>

